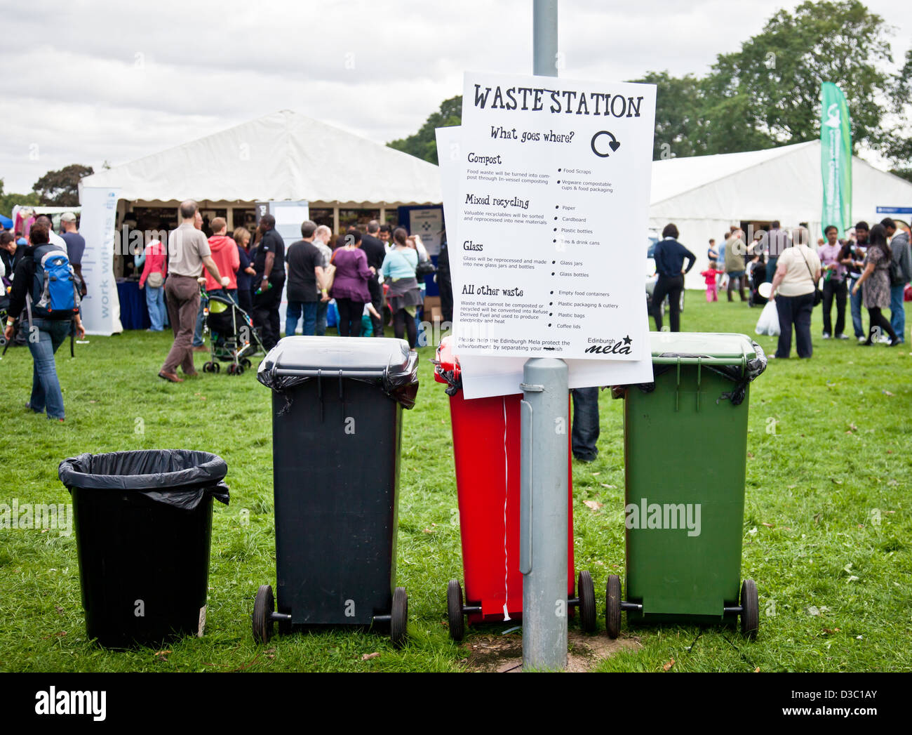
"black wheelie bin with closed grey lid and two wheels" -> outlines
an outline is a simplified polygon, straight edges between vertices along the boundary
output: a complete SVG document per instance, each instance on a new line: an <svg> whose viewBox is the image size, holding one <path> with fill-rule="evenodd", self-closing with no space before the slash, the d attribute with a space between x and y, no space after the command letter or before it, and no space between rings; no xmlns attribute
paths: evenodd
<svg viewBox="0 0 912 735"><path fill-rule="evenodd" d="M277 599L260 587L254 639L267 641L278 622L280 632L389 625L404 642L399 444L417 373L408 343L382 338L286 337L260 364L273 389Z"/></svg>

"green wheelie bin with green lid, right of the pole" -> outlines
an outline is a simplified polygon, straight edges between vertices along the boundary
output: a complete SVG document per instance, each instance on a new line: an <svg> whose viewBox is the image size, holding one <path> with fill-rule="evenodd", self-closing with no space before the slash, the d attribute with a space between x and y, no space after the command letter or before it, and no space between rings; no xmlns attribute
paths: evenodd
<svg viewBox="0 0 912 735"><path fill-rule="evenodd" d="M766 369L744 334L650 332L653 383L624 398L627 581L606 585L606 627L729 624L757 635L753 580L741 582L749 385Z"/></svg>

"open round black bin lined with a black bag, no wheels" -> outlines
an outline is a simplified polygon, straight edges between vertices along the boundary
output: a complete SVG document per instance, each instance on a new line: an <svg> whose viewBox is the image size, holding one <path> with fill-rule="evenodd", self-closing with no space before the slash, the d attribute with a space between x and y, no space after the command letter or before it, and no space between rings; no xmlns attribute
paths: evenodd
<svg viewBox="0 0 912 735"><path fill-rule="evenodd" d="M90 638L125 648L202 635L212 499L228 504L227 471L222 457L183 449L60 463Z"/></svg>

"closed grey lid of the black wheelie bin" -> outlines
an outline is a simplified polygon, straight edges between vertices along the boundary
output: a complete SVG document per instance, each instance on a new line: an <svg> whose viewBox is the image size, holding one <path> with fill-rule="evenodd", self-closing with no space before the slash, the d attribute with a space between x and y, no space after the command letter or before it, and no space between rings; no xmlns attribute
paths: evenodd
<svg viewBox="0 0 912 735"><path fill-rule="evenodd" d="M409 342L383 337L285 337L266 355L275 375L382 377L409 371Z"/></svg>

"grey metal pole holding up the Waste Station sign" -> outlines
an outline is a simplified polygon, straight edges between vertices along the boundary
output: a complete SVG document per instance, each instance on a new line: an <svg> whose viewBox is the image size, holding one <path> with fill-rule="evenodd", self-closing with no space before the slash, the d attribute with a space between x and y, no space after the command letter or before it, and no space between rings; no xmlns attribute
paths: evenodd
<svg viewBox="0 0 912 735"><path fill-rule="evenodd" d="M533 73L557 76L557 0L534 0ZM523 367L520 572L523 668L567 663L567 366L533 358Z"/></svg>

